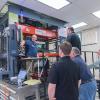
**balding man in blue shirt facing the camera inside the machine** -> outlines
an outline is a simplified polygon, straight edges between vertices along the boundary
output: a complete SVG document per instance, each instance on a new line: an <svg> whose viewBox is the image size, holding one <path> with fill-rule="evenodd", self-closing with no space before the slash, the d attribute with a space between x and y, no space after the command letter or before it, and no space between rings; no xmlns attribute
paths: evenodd
<svg viewBox="0 0 100 100"><path fill-rule="evenodd" d="M32 35L31 39L21 42L21 47L25 46L25 55L26 57L37 57L37 36Z"/></svg>

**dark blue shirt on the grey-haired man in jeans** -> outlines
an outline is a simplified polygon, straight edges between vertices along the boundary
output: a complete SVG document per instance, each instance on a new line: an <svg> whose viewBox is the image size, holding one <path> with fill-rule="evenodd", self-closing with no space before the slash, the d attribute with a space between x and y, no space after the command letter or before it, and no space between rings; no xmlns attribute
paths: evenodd
<svg viewBox="0 0 100 100"><path fill-rule="evenodd" d="M80 55L77 55L72 60L80 66L80 78L82 81L87 81L93 78L93 75L89 67L86 65L84 60L80 57Z"/></svg>

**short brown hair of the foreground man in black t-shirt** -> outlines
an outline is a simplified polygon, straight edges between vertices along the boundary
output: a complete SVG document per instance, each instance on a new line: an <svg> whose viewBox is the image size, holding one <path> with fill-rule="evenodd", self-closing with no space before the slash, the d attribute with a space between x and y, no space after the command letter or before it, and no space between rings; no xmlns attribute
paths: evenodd
<svg viewBox="0 0 100 100"><path fill-rule="evenodd" d="M64 55L69 55L72 50L72 45L66 41L60 45L60 49Z"/></svg>

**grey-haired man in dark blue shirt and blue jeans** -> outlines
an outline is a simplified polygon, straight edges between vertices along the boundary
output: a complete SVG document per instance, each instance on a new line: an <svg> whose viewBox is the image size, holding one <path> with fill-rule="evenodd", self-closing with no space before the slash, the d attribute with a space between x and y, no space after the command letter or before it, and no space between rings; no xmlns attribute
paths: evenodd
<svg viewBox="0 0 100 100"><path fill-rule="evenodd" d="M80 56L80 51L76 47L72 47L70 56L72 60L80 66L80 96L79 100L95 100L96 95L96 81L91 74L90 69Z"/></svg>

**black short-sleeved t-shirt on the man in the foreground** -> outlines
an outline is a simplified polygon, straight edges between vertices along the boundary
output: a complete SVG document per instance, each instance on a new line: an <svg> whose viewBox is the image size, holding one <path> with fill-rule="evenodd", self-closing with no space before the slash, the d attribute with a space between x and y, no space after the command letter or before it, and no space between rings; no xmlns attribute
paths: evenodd
<svg viewBox="0 0 100 100"><path fill-rule="evenodd" d="M79 79L79 66L66 56L52 66L48 82L56 84L56 100L78 100Z"/></svg>

